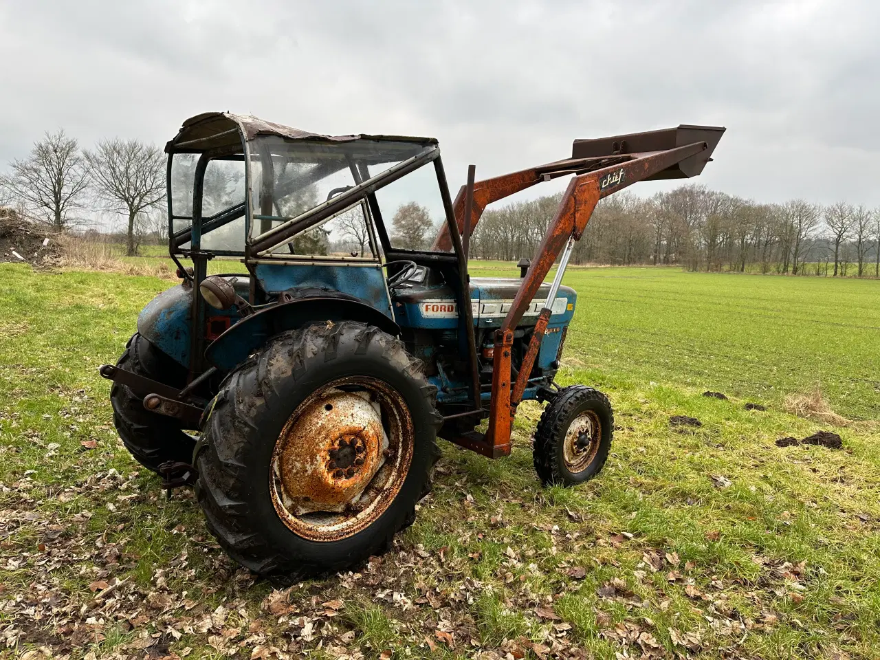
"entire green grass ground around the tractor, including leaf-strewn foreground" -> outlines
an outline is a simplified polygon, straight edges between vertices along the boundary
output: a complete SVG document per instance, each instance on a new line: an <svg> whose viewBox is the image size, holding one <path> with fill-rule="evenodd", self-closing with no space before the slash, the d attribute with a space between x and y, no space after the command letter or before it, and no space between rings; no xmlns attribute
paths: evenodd
<svg viewBox="0 0 880 660"><path fill-rule="evenodd" d="M880 282L566 283L559 381L607 392L618 424L598 479L541 488L524 407L510 458L444 444L390 554L279 586L227 559L192 495L166 500L115 435L97 368L172 282L0 265L0 656L876 657ZM856 420L832 429L843 449L777 447L830 429L781 408L819 379Z"/></svg>

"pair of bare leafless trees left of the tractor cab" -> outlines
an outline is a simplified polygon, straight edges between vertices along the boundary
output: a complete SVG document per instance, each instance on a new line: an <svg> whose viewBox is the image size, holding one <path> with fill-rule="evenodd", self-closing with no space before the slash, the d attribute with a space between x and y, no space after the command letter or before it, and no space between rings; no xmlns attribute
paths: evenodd
<svg viewBox="0 0 880 660"><path fill-rule="evenodd" d="M83 150L63 129L47 132L26 158L0 175L0 206L18 206L58 233L81 224L81 209L128 219L126 252L137 251L138 224L165 203L165 154L138 140L101 140Z"/></svg>

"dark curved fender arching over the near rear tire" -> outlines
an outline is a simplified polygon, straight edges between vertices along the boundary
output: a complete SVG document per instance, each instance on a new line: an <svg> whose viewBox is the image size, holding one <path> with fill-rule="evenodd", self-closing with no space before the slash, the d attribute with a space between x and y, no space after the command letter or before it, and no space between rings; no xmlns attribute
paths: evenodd
<svg viewBox="0 0 880 660"><path fill-rule="evenodd" d="M341 297L302 297L241 319L209 345L205 357L218 369L231 370L276 334L310 323L342 320L363 321L385 333L400 334L400 326L369 304Z"/></svg>

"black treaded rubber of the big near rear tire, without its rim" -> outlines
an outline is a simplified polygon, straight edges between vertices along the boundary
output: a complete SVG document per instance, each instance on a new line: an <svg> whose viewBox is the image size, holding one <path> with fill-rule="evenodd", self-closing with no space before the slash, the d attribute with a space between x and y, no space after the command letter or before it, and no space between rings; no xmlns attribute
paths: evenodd
<svg viewBox="0 0 880 660"><path fill-rule="evenodd" d="M398 392L409 411L414 432L406 475L363 529L341 539L305 538L276 512L275 444L315 392L367 376ZM204 422L194 453L195 493L210 532L235 561L264 575L336 571L385 552L429 492L442 423L435 403L436 387L422 363L375 326L343 321L276 336L224 380Z"/></svg>

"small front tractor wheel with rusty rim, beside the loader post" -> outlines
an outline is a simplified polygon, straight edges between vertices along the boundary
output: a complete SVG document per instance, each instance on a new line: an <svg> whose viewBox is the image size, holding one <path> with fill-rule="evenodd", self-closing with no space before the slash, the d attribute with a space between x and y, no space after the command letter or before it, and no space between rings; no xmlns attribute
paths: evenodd
<svg viewBox="0 0 880 660"><path fill-rule="evenodd" d="M595 477L608 458L614 428L611 403L583 385L562 388L541 414L532 455L545 486L576 486Z"/></svg>

